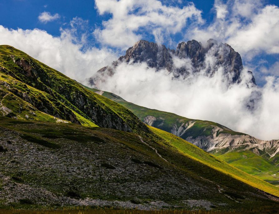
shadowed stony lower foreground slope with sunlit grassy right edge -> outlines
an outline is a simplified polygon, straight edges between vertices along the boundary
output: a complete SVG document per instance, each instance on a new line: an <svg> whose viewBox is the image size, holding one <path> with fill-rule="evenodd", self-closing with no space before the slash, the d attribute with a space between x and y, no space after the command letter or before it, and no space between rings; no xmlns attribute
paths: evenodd
<svg viewBox="0 0 279 214"><path fill-rule="evenodd" d="M0 118L3 208L240 210L279 205L277 197L248 184L279 196L274 186L155 128L139 136L73 123Z"/></svg>

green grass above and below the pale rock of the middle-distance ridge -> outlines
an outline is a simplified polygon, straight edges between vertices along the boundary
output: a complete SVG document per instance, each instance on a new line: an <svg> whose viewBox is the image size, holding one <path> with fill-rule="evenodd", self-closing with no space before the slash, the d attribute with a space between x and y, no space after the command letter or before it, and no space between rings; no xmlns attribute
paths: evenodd
<svg viewBox="0 0 279 214"><path fill-rule="evenodd" d="M86 88L93 92L100 92L99 90L94 88ZM244 135L243 133L234 132L215 122L189 119L173 113L138 106L131 102L127 102L121 97L110 92L102 92L102 96L112 99L115 102L118 102L119 104L128 108L142 121L145 121L145 118L147 116L155 117L156 121L152 123L152 126L162 129L166 132L171 132L173 126L180 127L182 124L195 122L191 128L187 129L186 132L184 132L180 136L183 139L186 139L189 136L193 138L196 138L198 136L210 136L212 135L213 127L220 127L223 129L223 131L218 132L217 135L221 133L228 133L230 135ZM230 163L232 166L262 180L271 182L275 185L277 185L276 181L279 181L279 154L269 159L266 153L257 155L251 151L241 151L241 149L238 149L238 151L233 150L232 152L229 152L229 148L223 149L217 153L212 152L212 154L226 161L227 163Z"/></svg>

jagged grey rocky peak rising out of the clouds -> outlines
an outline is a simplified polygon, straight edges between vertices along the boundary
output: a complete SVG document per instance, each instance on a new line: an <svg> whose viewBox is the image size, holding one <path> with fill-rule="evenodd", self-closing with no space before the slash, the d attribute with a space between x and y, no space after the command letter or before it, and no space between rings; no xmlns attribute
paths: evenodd
<svg viewBox="0 0 279 214"><path fill-rule="evenodd" d="M187 63L190 60L190 63ZM154 42L140 40L133 47L127 49L124 56L113 62L111 65L101 68L97 76L88 79L91 86L98 86L100 75L108 72L113 75L115 67L119 63L146 62L148 67L167 69L174 77L188 77L191 73L203 72L208 77L212 77L217 70L222 67L223 76L229 84L241 81L243 72L242 59L238 52L228 44L219 43L214 39L209 39L206 44L196 40L181 42L176 50L167 49L164 45ZM256 85L255 78L250 72L250 83Z"/></svg>

